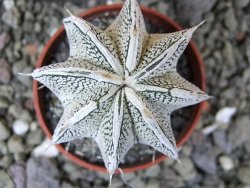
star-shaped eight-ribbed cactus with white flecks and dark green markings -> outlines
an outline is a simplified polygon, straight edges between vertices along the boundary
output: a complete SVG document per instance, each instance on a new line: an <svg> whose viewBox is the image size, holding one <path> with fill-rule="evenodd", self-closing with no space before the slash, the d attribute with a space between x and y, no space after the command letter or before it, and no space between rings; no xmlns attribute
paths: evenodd
<svg viewBox="0 0 250 188"><path fill-rule="evenodd" d="M110 175L136 143L178 159L171 112L209 98L176 72L198 26L148 34L136 0L104 31L71 13L64 26L68 59L31 73L64 107L52 142L93 138Z"/></svg>

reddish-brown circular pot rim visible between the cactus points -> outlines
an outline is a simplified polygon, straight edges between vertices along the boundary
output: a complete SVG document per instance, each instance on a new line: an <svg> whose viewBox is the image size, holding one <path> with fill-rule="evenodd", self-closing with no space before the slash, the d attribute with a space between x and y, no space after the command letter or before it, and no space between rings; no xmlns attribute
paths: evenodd
<svg viewBox="0 0 250 188"><path fill-rule="evenodd" d="M103 13L103 12L119 11L121 9L121 7L122 7L122 4L101 5L101 6L91 8L91 9L79 14L78 16L83 17L83 18L87 18L87 17L95 16L95 15ZM168 24L171 27L173 27L176 31L182 29L175 21L170 19L168 16L160 14L160 13L156 12L155 10L152 10L152 9L145 7L145 6L141 6L141 10L142 10L144 15L148 15L150 17L155 17L155 19L158 19L158 20L164 22L164 24ZM61 26L58 29L58 31L49 39L49 41L46 43L42 53L40 54L40 56L38 58L36 68L43 66L46 54L49 53L53 43L55 43L56 40L58 40L58 38L60 38L60 36L63 34L63 32L64 32L64 26ZM195 66L196 69L198 69L198 70L196 70L197 73L194 76L194 80L197 81L198 87L200 87L200 89L206 90L205 71L204 71L203 61L202 61L202 58L201 58L197 48L195 47L195 45L192 41L189 42L189 45L187 47L187 56L189 56L189 55L190 55L190 57L188 57L188 59L195 59L195 61L196 61L195 65L192 65L192 66ZM194 62L192 61L191 64L194 64ZM197 75L197 74L200 74L200 75ZM40 90L38 90L38 82L36 80L34 80L33 81L33 97L34 97L34 107L35 107L36 115L37 115L38 121L40 123L40 126L42 127L46 136L48 138L51 138L52 133L48 129L48 126L47 126L46 121L45 121L44 116L43 116L43 111L41 109L41 103L43 101L39 97L39 93L40 93ZM180 136L179 139L177 139L177 147L181 147L187 141L187 139L191 136L195 125L199 121L199 117L201 115L203 105L204 105L204 102L196 105L196 108L195 108L196 112L194 113L195 114L194 117L192 118L192 120L190 122L187 122L188 126L186 125L186 127L187 127L186 131L184 132L184 134L182 134ZM76 164L83 166L85 168L91 169L91 170L107 173L107 170L104 166L100 166L100 165L97 165L94 163L89 163L83 159L80 159L79 157L75 156L74 154L67 152L65 150L65 148L60 144L56 145L56 147L58 148L58 150L62 154L66 155L70 160L72 160ZM129 173L129 172L134 172L137 170L146 169L146 168L149 168L149 167L165 160L166 158L167 157L165 155L161 154L161 155L156 157L154 162L145 162L143 164L138 164L138 165L123 166L122 170L124 173ZM117 173L119 173L119 172L117 171Z"/></svg>

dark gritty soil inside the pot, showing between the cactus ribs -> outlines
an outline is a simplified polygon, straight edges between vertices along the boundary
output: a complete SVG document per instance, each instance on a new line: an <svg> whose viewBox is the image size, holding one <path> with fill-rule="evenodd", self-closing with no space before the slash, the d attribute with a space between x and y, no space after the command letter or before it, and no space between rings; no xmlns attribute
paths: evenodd
<svg viewBox="0 0 250 188"><path fill-rule="evenodd" d="M118 12L113 11L109 13L102 13L96 17L88 18L87 21L96 25L101 29L105 29L109 26L113 19L116 18ZM160 23L154 23L152 20L145 18L146 28L149 33L167 33L168 30L164 30ZM69 46L66 37L66 33L64 34L63 40L57 44L58 48L51 52L50 60L48 64L59 63L66 60L69 56ZM187 58L185 54L181 56L177 64L177 71L179 74L192 82L192 74L190 67L187 62ZM43 89L45 96L45 112L46 112L46 122L49 125L49 129L51 132L54 132L54 129L63 113L63 108L58 100L58 98L47 88ZM180 136L180 132L183 127L191 120L190 114L192 114L193 107L185 107L179 110L176 110L171 115L171 123L174 131L175 138L177 139ZM83 160L94 163L97 165L104 166L100 150L96 145L95 141L90 138L77 139L70 143L62 144L66 150L76 155L78 158L82 158ZM132 166L134 164L143 164L145 162L149 162L152 160L152 157L160 155L159 152L155 151L153 148L136 144L133 148L125 156L124 160L121 162L120 166L128 165Z"/></svg>

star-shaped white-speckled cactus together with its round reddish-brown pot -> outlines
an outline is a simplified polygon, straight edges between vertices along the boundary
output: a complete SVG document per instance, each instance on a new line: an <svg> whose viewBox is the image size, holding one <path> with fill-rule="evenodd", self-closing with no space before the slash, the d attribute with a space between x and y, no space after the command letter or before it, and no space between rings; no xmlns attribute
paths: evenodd
<svg viewBox="0 0 250 188"><path fill-rule="evenodd" d="M102 30L79 17L99 24ZM140 10L135 0L127 0L123 8L120 4L95 7L79 17L70 13L65 28L48 41L37 69L30 74L35 79L35 110L46 135L75 163L111 176L135 143L164 154L158 153L154 162L123 164L124 172L148 168L166 155L178 159L176 146L188 139L201 114L202 103L196 103L209 98L202 92L206 89L202 60L189 42L198 26L180 31L167 16L147 7ZM150 32L179 32L148 34L143 17ZM177 60L186 46L181 65L185 70L180 72L193 84L176 73ZM58 63L55 54L68 53L65 62ZM64 108L56 126L48 120L53 97L46 88L39 89L40 83L55 93ZM186 122L176 123L172 131L172 111L193 104L182 112ZM95 138L105 166L67 151L64 142L78 139L79 143L83 137Z"/></svg>

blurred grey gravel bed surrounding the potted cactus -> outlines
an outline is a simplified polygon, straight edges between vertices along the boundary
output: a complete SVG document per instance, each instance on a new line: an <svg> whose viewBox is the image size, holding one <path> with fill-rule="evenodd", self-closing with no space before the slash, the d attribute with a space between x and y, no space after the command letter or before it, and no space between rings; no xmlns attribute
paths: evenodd
<svg viewBox="0 0 250 188"><path fill-rule="evenodd" d="M32 79L17 75L34 69L44 44L67 16L65 2L0 2L0 187L108 186L106 174L79 167L58 153L50 158L36 154L45 137L34 112ZM147 170L125 174L124 180L137 188L250 187L249 0L140 2L183 27L207 20L193 39L204 60L207 93L214 98L180 150L183 165L166 160ZM77 13L104 3L72 0L68 6ZM228 106L236 108L231 120L204 134L204 128L215 124L217 112ZM126 186L115 175L112 187Z"/></svg>

